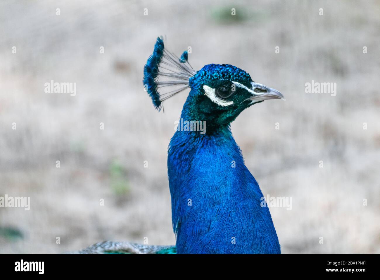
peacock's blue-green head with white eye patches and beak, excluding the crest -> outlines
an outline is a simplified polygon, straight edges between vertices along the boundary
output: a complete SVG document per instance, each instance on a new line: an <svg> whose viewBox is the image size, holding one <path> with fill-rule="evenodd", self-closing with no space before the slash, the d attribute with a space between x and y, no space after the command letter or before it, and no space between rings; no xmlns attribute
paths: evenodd
<svg viewBox="0 0 380 280"><path fill-rule="evenodd" d="M247 72L229 64L204 66L190 78L189 85L186 115L216 125L231 123L258 102L284 99L279 91L253 82Z"/></svg>

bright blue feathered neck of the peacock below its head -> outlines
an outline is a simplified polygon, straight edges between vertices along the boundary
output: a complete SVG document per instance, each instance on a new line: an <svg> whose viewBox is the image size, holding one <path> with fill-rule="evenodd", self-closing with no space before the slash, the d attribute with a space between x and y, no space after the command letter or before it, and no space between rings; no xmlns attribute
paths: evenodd
<svg viewBox="0 0 380 280"><path fill-rule="evenodd" d="M185 116L182 116L184 119ZM263 194L230 126L176 131L168 176L177 253L280 253Z"/></svg>

